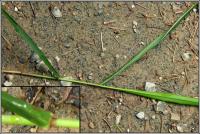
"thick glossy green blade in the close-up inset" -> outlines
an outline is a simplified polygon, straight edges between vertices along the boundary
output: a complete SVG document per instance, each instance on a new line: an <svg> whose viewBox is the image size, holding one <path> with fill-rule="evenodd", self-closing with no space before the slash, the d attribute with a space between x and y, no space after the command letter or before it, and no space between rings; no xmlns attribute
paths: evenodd
<svg viewBox="0 0 200 134"><path fill-rule="evenodd" d="M52 118L50 112L34 107L3 91L1 92L1 99L3 108L24 117L40 127L48 127L50 125Z"/></svg>

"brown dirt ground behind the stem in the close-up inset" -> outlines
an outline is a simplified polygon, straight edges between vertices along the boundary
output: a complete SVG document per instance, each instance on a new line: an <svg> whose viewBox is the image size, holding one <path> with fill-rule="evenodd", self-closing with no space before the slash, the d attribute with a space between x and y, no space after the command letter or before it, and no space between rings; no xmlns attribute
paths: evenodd
<svg viewBox="0 0 200 134"><path fill-rule="evenodd" d="M4 87L10 95L54 114L55 118L79 119L79 87ZM11 114L2 109L3 114ZM49 129L31 126L3 125L2 132L79 132L78 129Z"/></svg>

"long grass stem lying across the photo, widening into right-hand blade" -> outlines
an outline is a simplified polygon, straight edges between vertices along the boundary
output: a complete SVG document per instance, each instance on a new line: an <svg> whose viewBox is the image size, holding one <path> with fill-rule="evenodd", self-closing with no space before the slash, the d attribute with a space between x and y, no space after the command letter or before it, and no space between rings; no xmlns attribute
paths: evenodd
<svg viewBox="0 0 200 134"><path fill-rule="evenodd" d="M111 89L111 90L121 91L121 92L129 93L129 94L139 95L139 96L143 96L143 97L147 97L147 98L151 98L151 99L156 99L156 100L160 100L160 101L181 104L181 105L198 106L198 103L199 103L198 98L191 98L191 97L176 95L176 94L172 94L172 93L147 92L147 91L137 90L137 89L112 87L112 86L106 86L106 85L101 85L101 84L96 84L96 83L89 83L89 82L85 82L85 81L71 80L71 79L66 79L66 78L61 78L61 77L56 79L51 76L22 73L19 71L2 70L2 72L43 78L43 79L68 81L68 82L77 83L77 84L86 85L86 86L100 87L100 89Z"/></svg>

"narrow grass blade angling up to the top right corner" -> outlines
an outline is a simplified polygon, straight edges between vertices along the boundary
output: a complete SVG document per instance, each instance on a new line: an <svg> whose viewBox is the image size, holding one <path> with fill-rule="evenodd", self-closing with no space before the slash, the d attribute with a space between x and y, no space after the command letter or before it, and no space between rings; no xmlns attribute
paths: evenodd
<svg viewBox="0 0 200 134"><path fill-rule="evenodd" d="M114 73L112 73L111 75L109 75L108 77L106 77L101 82L101 84L104 85L104 84L108 83L109 81L111 81L112 79L114 79L114 77L118 76L119 74L121 74L122 72L124 72L125 70L127 70L132 64L134 64L135 62L137 62L138 60L140 60L149 50L151 50L152 48L155 48L156 46L158 46L180 24L180 22L189 15L189 13L192 11L192 9L194 9L195 7L197 7L197 5L198 4L192 5L188 10L186 10L176 20L176 22L169 28L169 30L167 30L165 33L163 33L160 36L158 36L153 42L151 42L144 49L142 49L137 55L133 56L121 68L119 68L117 71L115 71Z"/></svg>

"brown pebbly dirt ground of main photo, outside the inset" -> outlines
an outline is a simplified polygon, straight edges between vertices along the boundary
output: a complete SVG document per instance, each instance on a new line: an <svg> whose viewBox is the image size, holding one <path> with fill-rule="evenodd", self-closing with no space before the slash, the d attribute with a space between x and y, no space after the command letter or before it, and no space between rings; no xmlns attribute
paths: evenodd
<svg viewBox="0 0 200 134"><path fill-rule="evenodd" d="M60 74L99 83L167 30L190 2L6 2L9 14L45 52ZM62 17L55 18L57 6ZM15 7L19 9L14 11ZM31 8L32 7L32 8ZM198 12L192 11L157 48L116 77L110 85L198 97ZM136 29L133 23L137 22ZM102 40L101 40L102 34ZM31 51L2 16L2 68L50 75L30 63ZM103 49L102 49L103 44ZM104 51L103 51L104 50ZM190 53L184 60L184 53ZM56 62L55 57L60 58ZM2 83L5 81L2 75ZM31 82L30 82L31 81ZM12 85L60 85L14 76ZM125 93L81 87L81 132L198 132L198 108L166 104ZM146 118L136 115L144 112ZM172 120L175 113L180 119ZM116 118L121 120L116 125ZM182 129L181 129L182 128Z"/></svg>

